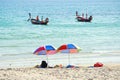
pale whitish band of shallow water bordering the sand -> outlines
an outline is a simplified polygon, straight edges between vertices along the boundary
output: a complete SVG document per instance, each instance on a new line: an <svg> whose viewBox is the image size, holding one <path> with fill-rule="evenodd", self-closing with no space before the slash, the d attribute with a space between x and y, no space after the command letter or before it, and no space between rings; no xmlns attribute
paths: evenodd
<svg viewBox="0 0 120 80"><path fill-rule="evenodd" d="M62 56L62 57L61 57ZM7 56L9 57L9 56ZM14 58L12 58L14 57ZM68 55L65 54L55 54L48 56L49 60L47 61L46 56L38 56L38 55L13 55L10 58L6 59L6 56L3 56L0 61L0 69L1 68L21 68L21 67L33 67L35 65L39 65L42 60L45 60L49 66L55 66L62 64L66 66L68 64L75 66L92 66L96 62L102 62L103 64L119 64L120 57L119 53L79 53L70 55L70 59L68 59Z"/></svg>

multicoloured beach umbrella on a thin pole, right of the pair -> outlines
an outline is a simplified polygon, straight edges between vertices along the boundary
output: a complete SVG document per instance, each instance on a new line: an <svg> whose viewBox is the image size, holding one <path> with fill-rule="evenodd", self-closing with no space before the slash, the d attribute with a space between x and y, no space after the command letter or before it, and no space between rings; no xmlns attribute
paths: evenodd
<svg viewBox="0 0 120 80"><path fill-rule="evenodd" d="M80 48L74 44L63 44L57 49L57 52L68 54L69 64L70 64L70 54L78 53L79 51Z"/></svg>

